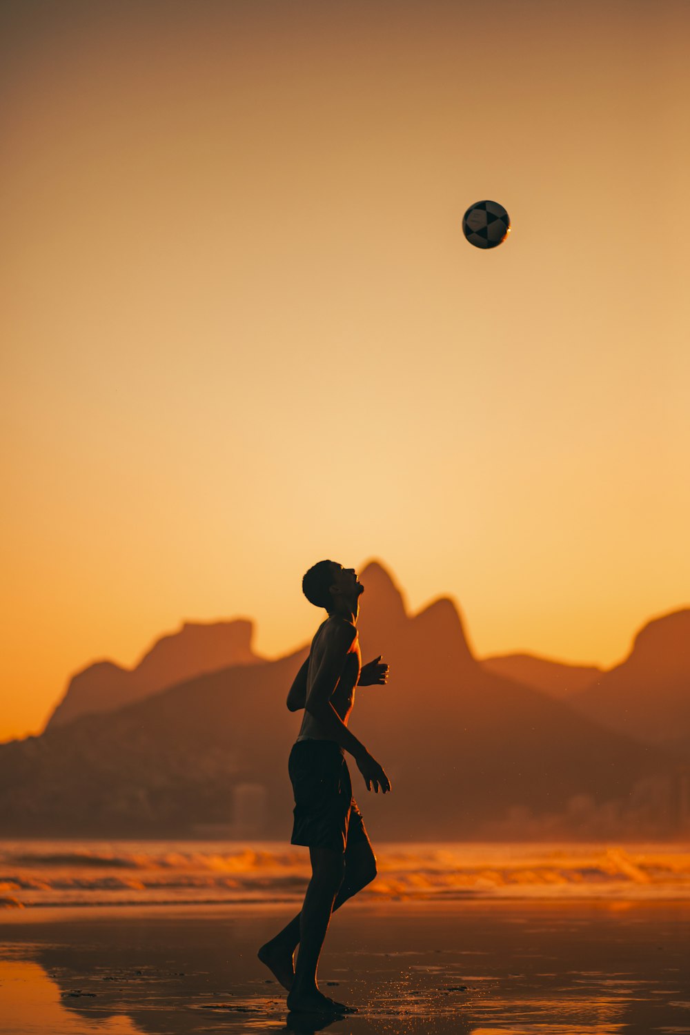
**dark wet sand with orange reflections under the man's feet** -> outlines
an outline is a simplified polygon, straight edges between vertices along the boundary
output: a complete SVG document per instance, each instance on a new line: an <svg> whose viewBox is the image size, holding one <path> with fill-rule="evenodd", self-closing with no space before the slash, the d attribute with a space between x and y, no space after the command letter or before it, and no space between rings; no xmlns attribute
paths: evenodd
<svg viewBox="0 0 690 1035"><path fill-rule="evenodd" d="M288 906L26 910L0 921L0 1028L332 1035L690 1033L690 904L346 904L289 1014L256 957Z"/></svg>

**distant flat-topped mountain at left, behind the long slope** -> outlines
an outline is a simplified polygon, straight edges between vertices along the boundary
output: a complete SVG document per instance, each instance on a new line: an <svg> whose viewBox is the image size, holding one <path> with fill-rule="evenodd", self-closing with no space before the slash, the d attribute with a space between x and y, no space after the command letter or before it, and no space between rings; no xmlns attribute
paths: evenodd
<svg viewBox="0 0 690 1035"><path fill-rule="evenodd" d="M173 683L232 664L256 664L251 650L253 625L237 618L224 622L184 622L177 632L157 640L133 669L114 661L95 661L72 676L47 729L64 726L80 715L112 712Z"/></svg>

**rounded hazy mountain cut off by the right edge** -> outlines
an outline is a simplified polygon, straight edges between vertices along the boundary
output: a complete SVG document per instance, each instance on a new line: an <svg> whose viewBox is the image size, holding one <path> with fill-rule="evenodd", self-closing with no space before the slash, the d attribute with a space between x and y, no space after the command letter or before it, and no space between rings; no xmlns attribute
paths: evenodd
<svg viewBox="0 0 690 1035"><path fill-rule="evenodd" d="M690 609L648 622L621 664L569 700L609 730L690 746Z"/></svg>

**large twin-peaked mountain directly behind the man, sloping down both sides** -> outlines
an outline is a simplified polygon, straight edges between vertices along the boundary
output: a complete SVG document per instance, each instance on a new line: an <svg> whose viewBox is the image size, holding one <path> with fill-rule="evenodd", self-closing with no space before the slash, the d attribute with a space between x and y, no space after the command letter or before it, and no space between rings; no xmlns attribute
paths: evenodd
<svg viewBox="0 0 690 1035"><path fill-rule="evenodd" d="M373 837L489 837L515 818L518 839L531 829L674 829L677 759L487 671L452 600L410 615L379 562L360 580L363 659L382 654L390 664L387 685L357 689L351 722L393 783L390 795L367 794L348 756ZM314 630L322 618L314 610ZM287 763L301 712L289 712L286 697L307 650L194 675L0 745L5 836L288 840Z"/></svg>

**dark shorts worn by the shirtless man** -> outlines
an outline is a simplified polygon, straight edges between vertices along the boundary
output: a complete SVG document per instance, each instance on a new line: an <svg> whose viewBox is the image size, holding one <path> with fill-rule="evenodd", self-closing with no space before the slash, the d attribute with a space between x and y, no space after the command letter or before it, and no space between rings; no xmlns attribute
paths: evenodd
<svg viewBox="0 0 690 1035"><path fill-rule="evenodd" d="M298 740L288 760L295 795L291 845L344 852L369 844L362 814L352 796L344 751L334 740Z"/></svg>

